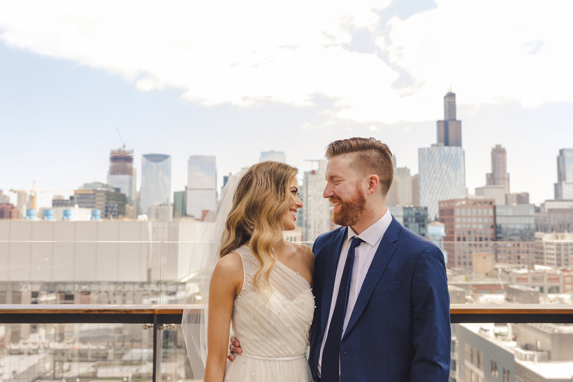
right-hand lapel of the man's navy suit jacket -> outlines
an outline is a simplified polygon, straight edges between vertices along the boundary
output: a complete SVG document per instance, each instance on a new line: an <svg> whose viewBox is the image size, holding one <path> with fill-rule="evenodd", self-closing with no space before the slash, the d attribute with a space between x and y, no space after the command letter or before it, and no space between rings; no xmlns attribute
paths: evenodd
<svg viewBox="0 0 573 382"><path fill-rule="evenodd" d="M358 318L360 318L360 315L362 315L366 305L368 304L370 296L372 296L372 292L374 292L374 288L376 288L376 285L384 274L386 266L388 266L392 256L394 256L396 251L395 242L398 240L400 230L401 225L394 217L392 217L392 222L384 233L378 249L376 249L376 254L374 254L372 263L368 268L364 283L360 288L360 292L358 292L356 304L354 304L354 309L352 310L350 320L342 338L346 337L347 333L351 331L354 324L358 321Z"/></svg>

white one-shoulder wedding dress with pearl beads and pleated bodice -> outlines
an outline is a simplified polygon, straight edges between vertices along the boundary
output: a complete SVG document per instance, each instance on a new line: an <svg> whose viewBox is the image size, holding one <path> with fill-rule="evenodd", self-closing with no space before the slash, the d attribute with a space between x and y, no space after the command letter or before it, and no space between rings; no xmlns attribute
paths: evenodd
<svg viewBox="0 0 573 382"><path fill-rule="evenodd" d="M306 347L315 302L308 281L277 261L269 276L272 295L265 299L253 283L259 264L254 254L247 245L236 252L244 279L231 321L242 354L227 361L225 381L312 381Z"/></svg>

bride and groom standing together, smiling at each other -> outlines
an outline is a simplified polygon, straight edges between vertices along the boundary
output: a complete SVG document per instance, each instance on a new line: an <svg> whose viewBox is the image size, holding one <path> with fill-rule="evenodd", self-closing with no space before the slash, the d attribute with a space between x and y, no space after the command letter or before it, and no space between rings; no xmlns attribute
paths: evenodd
<svg viewBox="0 0 573 382"><path fill-rule="evenodd" d="M390 150L349 138L326 158L341 227L312 252L281 233L302 207L297 169L258 163L240 178L210 282L204 381L448 381L444 257L386 208Z"/></svg>

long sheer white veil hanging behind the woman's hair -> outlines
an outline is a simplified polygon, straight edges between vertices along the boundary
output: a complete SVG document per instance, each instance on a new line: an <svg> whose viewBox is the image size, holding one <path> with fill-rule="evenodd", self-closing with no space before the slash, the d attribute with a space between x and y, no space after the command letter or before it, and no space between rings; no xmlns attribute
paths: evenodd
<svg viewBox="0 0 573 382"><path fill-rule="evenodd" d="M191 363L194 379L203 379L207 360L207 320L209 283L213 268L219 260L219 250L225 221L233 206L233 196L238 183L247 170L229 176L215 211L209 213L205 224L192 245L190 267L185 282L186 301L181 320L187 356Z"/></svg>

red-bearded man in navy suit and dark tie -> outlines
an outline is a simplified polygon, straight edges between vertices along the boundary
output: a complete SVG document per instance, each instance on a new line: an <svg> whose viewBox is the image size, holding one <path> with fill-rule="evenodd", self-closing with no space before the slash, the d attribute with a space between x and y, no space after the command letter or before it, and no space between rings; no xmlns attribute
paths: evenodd
<svg viewBox="0 0 573 382"><path fill-rule="evenodd" d="M313 247L313 379L448 381L444 256L386 208L390 149L374 138L349 138L329 144L326 158L323 196L341 227L320 235Z"/></svg>

